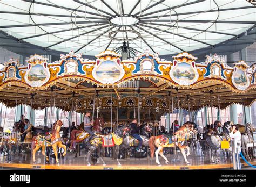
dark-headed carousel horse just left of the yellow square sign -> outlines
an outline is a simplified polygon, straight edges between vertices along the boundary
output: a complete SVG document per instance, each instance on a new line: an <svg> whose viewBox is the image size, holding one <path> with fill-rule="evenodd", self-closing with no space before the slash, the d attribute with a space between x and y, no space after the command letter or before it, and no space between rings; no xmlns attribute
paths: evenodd
<svg viewBox="0 0 256 187"><path fill-rule="evenodd" d="M220 148L220 143L223 141L221 133L218 128L223 127L220 121L214 121L213 128L210 128L207 133L206 143L211 147L211 161L212 163L217 163L217 150Z"/></svg>

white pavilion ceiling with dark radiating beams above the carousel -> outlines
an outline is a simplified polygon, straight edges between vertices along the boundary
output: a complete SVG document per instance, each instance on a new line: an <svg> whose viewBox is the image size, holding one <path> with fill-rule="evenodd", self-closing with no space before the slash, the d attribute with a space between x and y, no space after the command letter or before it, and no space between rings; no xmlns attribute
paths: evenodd
<svg viewBox="0 0 256 187"><path fill-rule="evenodd" d="M161 55L212 49L251 30L256 17L255 6L231 0L1 1L0 13L2 32L19 44L84 55L124 42Z"/></svg>

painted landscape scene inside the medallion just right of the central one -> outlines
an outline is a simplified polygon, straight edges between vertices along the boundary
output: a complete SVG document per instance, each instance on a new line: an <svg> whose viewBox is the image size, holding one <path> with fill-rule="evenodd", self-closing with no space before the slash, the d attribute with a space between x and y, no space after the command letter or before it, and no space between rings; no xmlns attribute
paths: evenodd
<svg viewBox="0 0 256 187"><path fill-rule="evenodd" d="M173 76L182 80L193 80L195 77L194 69L190 64L182 62L177 65L177 68L173 71Z"/></svg>

